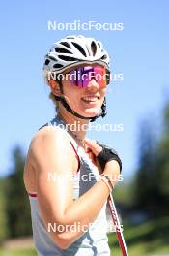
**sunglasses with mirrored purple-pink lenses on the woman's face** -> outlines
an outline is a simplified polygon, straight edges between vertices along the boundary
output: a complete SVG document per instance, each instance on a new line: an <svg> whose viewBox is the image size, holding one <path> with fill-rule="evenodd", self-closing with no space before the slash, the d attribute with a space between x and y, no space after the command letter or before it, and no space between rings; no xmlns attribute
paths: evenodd
<svg viewBox="0 0 169 256"><path fill-rule="evenodd" d="M80 88L87 88L91 80L96 80L99 88L110 83L110 72L102 66L79 67L71 70L69 75L71 83Z"/></svg>

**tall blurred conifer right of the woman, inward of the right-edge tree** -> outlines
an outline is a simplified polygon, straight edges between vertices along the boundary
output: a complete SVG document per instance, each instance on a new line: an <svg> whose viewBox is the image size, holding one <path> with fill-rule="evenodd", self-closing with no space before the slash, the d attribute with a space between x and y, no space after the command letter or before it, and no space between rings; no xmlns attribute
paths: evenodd
<svg viewBox="0 0 169 256"><path fill-rule="evenodd" d="M136 208L146 210L151 215L161 200L158 190L160 170L157 168L159 154L153 128L151 119L144 120L140 125L139 163L134 180Z"/></svg>

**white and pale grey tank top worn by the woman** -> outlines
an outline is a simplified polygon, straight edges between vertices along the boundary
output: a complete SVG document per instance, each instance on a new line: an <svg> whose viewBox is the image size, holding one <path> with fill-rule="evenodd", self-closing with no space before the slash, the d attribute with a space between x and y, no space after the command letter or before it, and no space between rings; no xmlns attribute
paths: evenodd
<svg viewBox="0 0 169 256"><path fill-rule="evenodd" d="M65 124L58 115L56 115L55 118L45 125L59 125L61 129L64 129ZM77 200L97 182L99 173L88 154L76 144L73 137L70 136L70 133L66 130L65 132L68 134L70 143L79 160L78 172L73 176L73 200ZM83 178L80 178L80 176L83 176L84 174L90 175L90 180L88 182L85 182L83 181ZM78 240L74 241L69 248L61 249L50 238L50 235L44 227L36 192L29 193L29 200L31 206L33 239L39 256L110 256L107 230L112 230L112 226L110 225L111 214L107 203L101 208L98 217L89 227L88 231L83 233Z"/></svg>

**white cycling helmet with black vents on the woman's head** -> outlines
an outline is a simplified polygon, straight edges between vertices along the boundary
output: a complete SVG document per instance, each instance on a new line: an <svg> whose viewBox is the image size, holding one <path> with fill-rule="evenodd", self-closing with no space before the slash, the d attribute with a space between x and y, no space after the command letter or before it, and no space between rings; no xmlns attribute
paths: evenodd
<svg viewBox="0 0 169 256"><path fill-rule="evenodd" d="M48 72L62 73L79 63L98 63L110 69L109 56L101 42L84 36L68 36L54 43L45 55L44 77Z"/></svg>

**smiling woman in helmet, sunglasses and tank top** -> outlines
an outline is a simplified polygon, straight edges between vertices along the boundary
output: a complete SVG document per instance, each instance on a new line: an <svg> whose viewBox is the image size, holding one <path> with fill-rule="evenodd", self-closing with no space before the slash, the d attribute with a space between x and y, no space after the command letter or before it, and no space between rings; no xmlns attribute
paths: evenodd
<svg viewBox="0 0 169 256"><path fill-rule="evenodd" d="M67 37L43 70L57 114L35 134L24 169L37 253L108 256L106 201L121 160L86 138L89 123L106 114L108 54L95 39Z"/></svg>

